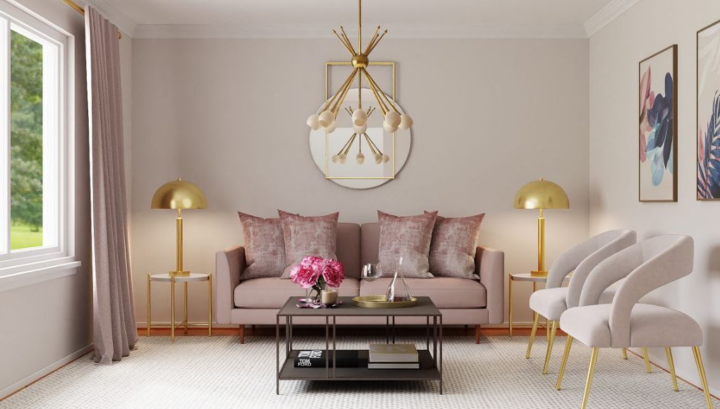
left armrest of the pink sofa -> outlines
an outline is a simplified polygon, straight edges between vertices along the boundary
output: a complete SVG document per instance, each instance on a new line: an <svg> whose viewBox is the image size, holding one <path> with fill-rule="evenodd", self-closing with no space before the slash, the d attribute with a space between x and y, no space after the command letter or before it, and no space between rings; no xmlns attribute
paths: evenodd
<svg viewBox="0 0 720 409"><path fill-rule="evenodd" d="M245 269L245 248L235 246L215 253L215 319L218 324L230 323L235 307L235 287Z"/></svg>

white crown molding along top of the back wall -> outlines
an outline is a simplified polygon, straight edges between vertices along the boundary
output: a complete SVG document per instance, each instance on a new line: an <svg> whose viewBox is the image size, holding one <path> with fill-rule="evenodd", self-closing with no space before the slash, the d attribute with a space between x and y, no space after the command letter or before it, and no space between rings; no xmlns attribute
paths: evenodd
<svg viewBox="0 0 720 409"><path fill-rule="evenodd" d="M394 38L586 38L582 24L392 25ZM138 24L135 38L334 38L327 25Z"/></svg>

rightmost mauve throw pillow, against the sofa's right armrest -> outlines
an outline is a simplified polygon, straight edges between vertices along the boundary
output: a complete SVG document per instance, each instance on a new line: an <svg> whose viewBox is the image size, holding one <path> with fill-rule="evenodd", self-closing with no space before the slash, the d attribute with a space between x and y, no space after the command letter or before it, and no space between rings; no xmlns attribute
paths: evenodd
<svg viewBox="0 0 720 409"><path fill-rule="evenodd" d="M430 271L434 275L477 279L475 251L483 217L485 213L469 217L436 218L430 244Z"/></svg>

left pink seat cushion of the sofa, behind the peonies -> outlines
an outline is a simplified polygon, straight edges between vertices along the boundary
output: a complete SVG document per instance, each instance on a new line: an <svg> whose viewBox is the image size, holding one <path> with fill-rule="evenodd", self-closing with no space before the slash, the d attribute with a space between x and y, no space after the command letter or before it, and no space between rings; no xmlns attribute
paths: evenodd
<svg viewBox="0 0 720 409"><path fill-rule="evenodd" d="M357 279L345 277L340 284L338 295L357 297L359 283ZM263 277L240 282L235 287L235 307L240 308L280 308L289 297L305 297L305 289L290 280L280 277Z"/></svg>

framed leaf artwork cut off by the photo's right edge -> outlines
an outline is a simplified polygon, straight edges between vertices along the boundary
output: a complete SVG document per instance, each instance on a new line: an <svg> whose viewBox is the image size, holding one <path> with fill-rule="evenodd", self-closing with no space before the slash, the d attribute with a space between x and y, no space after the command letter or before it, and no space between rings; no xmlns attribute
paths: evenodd
<svg viewBox="0 0 720 409"><path fill-rule="evenodd" d="M698 31L698 200L720 199L720 21Z"/></svg>

